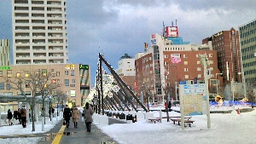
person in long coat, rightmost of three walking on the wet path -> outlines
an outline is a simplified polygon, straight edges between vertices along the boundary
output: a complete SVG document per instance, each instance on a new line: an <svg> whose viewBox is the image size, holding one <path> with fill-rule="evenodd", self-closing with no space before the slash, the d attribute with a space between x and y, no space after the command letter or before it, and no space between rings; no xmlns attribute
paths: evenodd
<svg viewBox="0 0 256 144"><path fill-rule="evenodd" d="M86 129L88 132L90 132L90 127L91 127L91 123L92 123L92 115L93 115L94 111L92 109L92 107L89 106L89 103L86 102L85 103L85 107L84 107L84 117L85 117L85 124L86 124Z"/></svg>

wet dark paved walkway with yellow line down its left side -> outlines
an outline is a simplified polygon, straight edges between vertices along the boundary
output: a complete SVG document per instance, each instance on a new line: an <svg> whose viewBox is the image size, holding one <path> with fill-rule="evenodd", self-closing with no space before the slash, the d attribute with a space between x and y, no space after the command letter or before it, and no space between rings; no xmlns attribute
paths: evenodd
<svg viewBox="0 0 256 144"><path fill-rule="evenodd" d="M78 128L73 127L72 120L70 121L70 128L62 125L62 121L55 125L55 128L49 130L47 134L38 141L38 144L118 144L117 141L113 141L111 137L104 134L102 130L98 129L95 124L91 125L91 131L86 131L85 123L81 120L81 114L78 122ZM120 124L125 123L115 118L108 118L108 124ZM60 142L59 142L60 141Z"/></svg>

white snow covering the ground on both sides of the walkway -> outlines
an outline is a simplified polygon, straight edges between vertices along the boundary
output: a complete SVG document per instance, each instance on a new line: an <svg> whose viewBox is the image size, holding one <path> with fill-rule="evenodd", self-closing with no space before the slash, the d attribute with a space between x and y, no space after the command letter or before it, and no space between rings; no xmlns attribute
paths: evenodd
<svg viewBox="0 0 256 144"><path fill-rule="evenodd" d="M237 105L236 109L248 108L247 106ZM172 107L173 110L178 111L179 107ZM232 107L211 107L211 111L226 111ZM83 111L83 109L80 109ZM154 118L160 117L160 112L152 112ZM97 114L94 114L96 117ZM166 116L166 112L162 112L163 117ZM169 112L169 116L180 116L179 112ZM106 116L107 117L107 116ZM136 123L132 123L131 120L127 121L127 124L111 124L111 125L99 125L96 121L97 128L102 130L114 141L118 141L119 144L148 144L148 143L160 143L160 144L213 144L213 143L225 143L225 144L255 144L255 125L256 125L256 111L241 112L237 114L236 111L231 113L211 113L211 128L207 128L207 115L195 115L190 118L195 122L191 124L191 127L185 127L184 130L181 126L167 122L166 118L162 119L162 122L148 121L148 119L138 118ZM82 118L79 118L82 119ZM61 120L61 118L59 118ZM56 122L55 118L53 124L50 124L49 118L45 124L45 131L52 129ZM36 128L40 128L41 124L36 124ZM22 130L22 131L20 131ZM20 129L20 125L3 126L0 127L1 135L20 135L42 133L41 129L36 129L32 132L32 123L27 124L26 129ZM44 131L44 132L45 132ZM92 131L93 132L93 131ZM40 137L26 137L26 138L7 138L1 139L0 143L20 143L20 144L34 144L39 141Z"/></svg>

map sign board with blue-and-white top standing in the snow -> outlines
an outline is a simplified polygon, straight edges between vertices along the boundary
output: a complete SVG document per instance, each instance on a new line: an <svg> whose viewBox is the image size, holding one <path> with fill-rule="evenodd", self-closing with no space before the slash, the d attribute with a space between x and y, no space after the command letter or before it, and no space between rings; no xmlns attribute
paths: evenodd
<svg viewBox="0 0 256 144"><path fill-rule="evenodd" d="M203 114L203 100L206 97L205 84L180 84L181 105L184 116Z"/></svg>

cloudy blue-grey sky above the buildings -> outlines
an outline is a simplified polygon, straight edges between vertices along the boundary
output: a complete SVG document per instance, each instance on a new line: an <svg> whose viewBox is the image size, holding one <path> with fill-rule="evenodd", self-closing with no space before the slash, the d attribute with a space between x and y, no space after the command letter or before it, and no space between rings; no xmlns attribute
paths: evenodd
<svg viewBox="0 0 256 144"><path fill-rule="evenodd" d="M179 28L183 41L205 37L256 19L254 0L67 0L69 63L91 66L94 84L98 53L118 68L118 60L143 52L151 33ZM0 1L0 38L12 40L11 0Z"/></svg>

